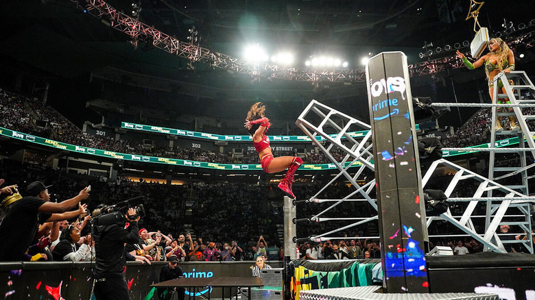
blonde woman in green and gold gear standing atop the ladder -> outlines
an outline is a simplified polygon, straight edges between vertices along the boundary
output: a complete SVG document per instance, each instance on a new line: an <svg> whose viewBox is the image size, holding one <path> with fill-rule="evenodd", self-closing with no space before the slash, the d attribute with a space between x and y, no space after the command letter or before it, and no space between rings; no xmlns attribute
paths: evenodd
<svg viewBox="0 0 535 300"><path fill-rule="evenodd" d="M479 58L479 60L473 64L469 62L466 56L464 56L464 54L459 50L457 50L457 58L460 58L464 65L471 70L485 65L485 73L488 79L488 93L490 94L490 99L492 99L495 88L493 82L494 77L496 77L496 75L498 75L501 71L503 71L503 73L510 73L511 71L514 71L514 55L512 50L509 49L507 43L501 40L501 38L492 38L492 40L488 42L488 49L490 50L490 53L482 56L482 58ZM505 94L505 90L503 90L503 83L501 81L499 82L497 88L498 94ZM511 103L509 99L502 98L498 98L497 101L492 99L492 103L501 104L503 100L505 100L505 103ZM507 108L506 110L508 112L512 112L512 108ZM498 108L497 111L500 112L501 108ZM519 129L519 126L516 125L516 117L514 116L509 117L509 125L512 131ZM499 131L502 129L501 116L497 116L495 130Z"/></svg>

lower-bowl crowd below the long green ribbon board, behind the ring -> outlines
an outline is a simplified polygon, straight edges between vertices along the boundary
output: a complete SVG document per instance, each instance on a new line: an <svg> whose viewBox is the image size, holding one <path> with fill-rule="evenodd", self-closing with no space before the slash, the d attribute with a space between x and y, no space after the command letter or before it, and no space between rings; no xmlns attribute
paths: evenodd
<svg viewBox="0 0 535 300"><path fill-rule="evenodd" d="M255 260L259 255L265 255L270 260L277 260L283 256L283 236L280 227L283 225L282 209L271 205L277 199L273 186L257 186L243 182L220 182L217 184L195 183L189 185L153 184L150 182L133 182L118 177L115 180L106 180L103 177L78 175L67 173L64 170L52 170L48 166L36 164L20 164L10 160L0 161L0 178L6 179L6 184L19 184L19 190L24 195L24 188L29 182L39 180L49 188L52 200L69 199L84 186L91 185L91 197L84 201L84 216L76 218L69 223L59 223L60 229L69 229L69 232L56 236L52 240L62 242L59 249L75 249L67 251L63 257L69 260L91 260L93 248L91 235L88 234L88 217L97 205L104 203L112 205L138 195L145 196L146 216L141 220L139 227L146 229L140 231L139 245L131 245L129 251L139 258L147 260L166 260L169 255L177 255L184 260ZM451 177L452 175L446 175ZM433 188L447 184L448 178L439 177ZM0 186L2 188L3 186ZM296 185L296 195L299 199L311 197L310 193L319 190L320 184ZM463 187L463 192L471 193L474 186ZM341 199L348 195L353 188L345 185L333 185L327 188L322 198ZM463 196L463 195L460 195ZM280 198L280 197L279 197ZM332 203L302 204L298 210L297 218L311 218L314 214L322 212ZM457 209L462 212L463 207L452 204L451 210L455 214ZM86 212L85 212L86 211ZM372 216L375 211L366 202L344 201L329 211L330 217L352 218L355 216ZM0 218L1 221L1 218ZM353 221L346 221L353 223ZM298 223L299 237L322 234L345 226L338 222L309 222ZM436 221L434 227L429 227L429 234L455 234L455 226L445 222ZM476 231L480 231L482 224L474 224ZM76 229L73 229L75 227ZM479 229L477 229L479 228ZM517 236L521 233L516 231ZM262 236L262 244L257 237ZM300 255L308 259L333 258L333 253L340 258L380 258L377 226L368 224L353 227L337 232L333 236L344 236L325 242L305 242L298 245ZM353 238L352 238L353 237ZM363 237L363 238L359 238ZM39 251L43 242L35 241L32 251ZM431 248L435 245L451 247L465 247L457 249L460 253L475 253L482 251L482 245L473 239L453 240L452 238L431 238ZM76 244L76 245L75 245ZM143 246L145 245L145 247ZM150 249L144 249L150 247ZM51 253L42 257L61 258L61 254ZM152 250L152 249L155 250ZM523 251L515 247L516 251ZM43 250L45 251L45 250ZM56 250L58 252L59 250ZM512 250L514 251L514 250ZM75 253L75 254L71 254ZM343 252L343 253L342 253ZM169 254L171 253L171 254ZM271 253L271 255L270 255ZM62 253L64 254L64 253ZM307 255L308 254L308 255ZM32 255L33 256L33 255Z"/></svg>

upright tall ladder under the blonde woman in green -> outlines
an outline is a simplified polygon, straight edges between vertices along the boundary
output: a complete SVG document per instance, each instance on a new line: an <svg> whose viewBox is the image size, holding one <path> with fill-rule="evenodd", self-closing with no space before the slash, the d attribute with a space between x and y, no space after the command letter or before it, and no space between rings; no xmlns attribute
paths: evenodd
<svg viewBox="0 0 535 300"><path fill-rule="evenodd" d="M499 93L499 85L503 84L503 90L505 91L504 94ZM524 71L511 71L510 73L499 73L494 78L494 93L492 95L492 99L509 99L511 104L523 104L523 105L533 105L532 107L535 108L535 86L532 84L529 77L527 77L526 73ZM524 97L524 98L523 98ZM495 102L496 103L496 102ZM510 108L507 105L504 105L504 108ZM506 127L503 128L501 131L496 131L496 123L497 123L497 117L503 117L506 116L508 119L512 116L516 118L516 121L519 123L520 130L516 129L514 131L511 131L510 128L506 130ZM506 112L506 109L503 109L501 112L498 112L498 109L496 106L492 107L492 125L490 128L490 148L497 148L498 143L497 140L503 140L503 138L497 138L502 136L516 136L519 140L519 147L518 148L506 148L501 149L501 153L516 153L516 155L519 155L519 165L518 166L495 166L496 164L496 153L495 151L490 151L490 158L489 158L489 167L488 167L488 178L490 180L499 180L506 177L511 176L518 176L521 175L521 179L519 180L519 184L504 184L504 186L507 186L508 188L521 192L524 195L530 195L527 185L527 180L530 179L530 177L527 175L527 170L529 168L532 168L535 166L535 163L532 163L530 165L527 165L527 151L530 151L532 153L533 158L535 158L535 142L533 140L533 136L535 134L534 131L530 131L530 127L527 125L527 120L535 120L535 115L533 114L524 114L522 108L520 106L513 106L512 112ZM527 149L526 149L526 143L524 142L524 137L526 137L527 142ZM510 149L508 151L507 149ZM503 174L506 173L506 174ZM533 176L531 176L533 177ZM492 190L488 190L488 197L492 197ZM496 201L487 201L486 205L486 218L485 218L485 228L488 229L490 226L492 215L497 214L499 212L499 208L501 206L501 203ZM501 242L503 243L516 243L516 244L522 244L524 245L530 253L533 253L534 247L533 247L533 236L530 234L531 227L532 227L532 221L531 221L531 212L530 212L530 203L511 203L509 205L509 208L516 208L518 209L521 214L523 214L525 217L523 220L515 220L515 221L508 221L508 220L502 220L499 225L518 225L521 227L521 229L525 232L527 232L527 238L525 240L515 240L514 238L508 239L504 238L502 236ZM505 213L505 212L503 212ZM495 238L497 236L495 235Z"/></svg>

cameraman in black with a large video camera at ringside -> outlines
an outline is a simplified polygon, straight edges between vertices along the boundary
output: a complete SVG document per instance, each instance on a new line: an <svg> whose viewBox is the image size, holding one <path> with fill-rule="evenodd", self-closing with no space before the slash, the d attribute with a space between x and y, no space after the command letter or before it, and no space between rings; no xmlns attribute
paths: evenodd
<svg viewBox="0 0 535 300"><path fill-rule="evenodd" d="M97 260L93 277L95 299L128 300L128 284L124 277L126 270L126 258L124 244L136 243L138 237L137 222L141 218L136 214L135 208L128 208L126 216L130 226L123 229L124 222L117 222L99 228L99 234L95 237L95 250Z"/></svg>

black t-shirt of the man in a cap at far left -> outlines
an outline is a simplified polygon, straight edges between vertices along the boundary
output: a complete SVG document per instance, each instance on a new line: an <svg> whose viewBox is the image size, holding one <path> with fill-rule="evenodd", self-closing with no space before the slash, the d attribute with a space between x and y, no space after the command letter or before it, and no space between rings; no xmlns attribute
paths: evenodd
<svg viewBox="0 0 535 300"><path fill-rule="evenodd" d="M38 209L43 203L45 201L37 197L24 197L10 205L0 224L0 261L23 259L36 237Z"/></svg>

